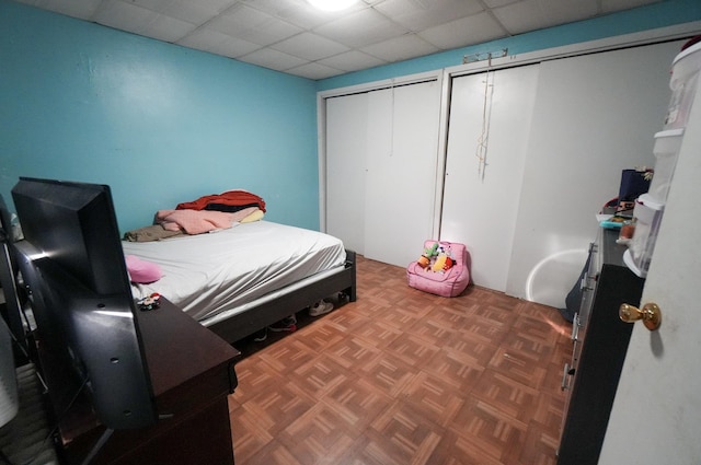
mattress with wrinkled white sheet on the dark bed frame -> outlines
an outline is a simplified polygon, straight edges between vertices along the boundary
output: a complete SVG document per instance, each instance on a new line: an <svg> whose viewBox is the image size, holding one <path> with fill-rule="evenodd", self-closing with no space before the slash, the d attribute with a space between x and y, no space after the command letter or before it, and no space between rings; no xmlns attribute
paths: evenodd
<svg viewBox="0 0 701 465"><path fill-rule="evenodd" d="M210 234L123 242L123 248L125 255L158 264L163 272L151 284L133 284L135 298L158 292L200 322L237 313L301 279L341 270L346 258L336 237L268 221Z"/></svg>

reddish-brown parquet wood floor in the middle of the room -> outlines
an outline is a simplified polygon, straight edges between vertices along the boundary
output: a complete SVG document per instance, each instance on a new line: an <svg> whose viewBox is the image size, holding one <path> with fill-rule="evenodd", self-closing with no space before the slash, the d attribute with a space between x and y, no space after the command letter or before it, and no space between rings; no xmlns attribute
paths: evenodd
<svg viewBox="0 0 701 465"><path fill-rule="evenodd" d="M356 302L237 346L237 465L555 463L572 353L555 309L427 294L363 257L357 282Z"/></svg>

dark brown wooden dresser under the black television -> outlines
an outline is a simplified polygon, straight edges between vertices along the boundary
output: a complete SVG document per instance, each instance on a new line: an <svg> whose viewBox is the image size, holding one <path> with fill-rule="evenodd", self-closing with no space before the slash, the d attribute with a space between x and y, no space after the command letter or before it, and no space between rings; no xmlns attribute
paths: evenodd
<svg viewBox="0 0 701 465"><path fill-rule="evenodd" d="M232 465L227 396L237 386L233 364L240 352L164 299L160 309L139 312L138 322L159 420L148 428L114 431L91 463ZM51 402L60 419L62 462L81 464L105 428L80 406L81 399L68 415Z"/></svg>

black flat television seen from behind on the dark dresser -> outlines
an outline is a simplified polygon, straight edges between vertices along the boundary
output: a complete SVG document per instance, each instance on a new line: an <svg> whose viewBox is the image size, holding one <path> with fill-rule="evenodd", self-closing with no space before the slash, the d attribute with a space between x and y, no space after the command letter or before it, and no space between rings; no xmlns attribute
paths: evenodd
<svg viewBox="0 0 701 465"><path fill-rule="evenodd" d="M68 390L87 387L106 428L153 425L139 310L110 187L20 177L12 198L24 235L14 251L43 350L72 373Z"/></svg>

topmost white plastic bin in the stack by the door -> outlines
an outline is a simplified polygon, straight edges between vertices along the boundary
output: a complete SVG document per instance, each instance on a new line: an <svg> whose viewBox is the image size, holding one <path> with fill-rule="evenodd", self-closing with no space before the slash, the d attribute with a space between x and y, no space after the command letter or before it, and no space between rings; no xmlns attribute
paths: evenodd
<svg viewBox="0 0 701 465"><path fill-rule="evenodd" d="M671 100L667 107L665 129L679 129L687 126L697 81L701 71L701 43L694 44L675 57L671 67Z"/></svg>

